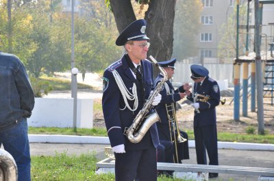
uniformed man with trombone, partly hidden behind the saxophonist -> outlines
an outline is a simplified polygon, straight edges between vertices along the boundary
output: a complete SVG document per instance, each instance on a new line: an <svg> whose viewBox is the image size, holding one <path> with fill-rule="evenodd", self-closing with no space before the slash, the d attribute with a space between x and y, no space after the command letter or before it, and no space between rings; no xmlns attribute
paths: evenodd
<svg viewBox="0 0 274 181"><path fill-rule="evenodd" d="M179 143L179 141L177 140L177 130L174 130L173 132L173 126L175 126L174 124L176 123L173 122L173 125L171 125L171 119L168 115L171 113L171 117L176 117L176 115L173 115L173 112L170 110L171 105L173 105L173 108L175 109L175 102L184 98L186 96L186 92L190 94L190 92L188 91L188 89L190 89L190 85L188 85L187 83L180 86L178 89L174 89L171 81L169 81L175 71L175 62L176 59L171 59L158 63L160 64L160 66L162 66L162 68L164 68L164 70L166 70L166 74L168 76L168 81L164 83L164 86L162 87L162 90L160 92L160 94L162 95L162 100L160 104L156 107L156 111L160 117L160 122L157 122L160 143L162 143L162 141L173 141L173 155L169 159L166 158L166 163L182 163L182 160L189 159L187 140L188 135L184 131L180 131L179 135L186 139L186 141ZM154 81L154 86L156 86L162 78L163 75L160 73ZM167 107L169 113L167 112ZM176 110L173 111L175 113ZM176 145L174 139L176 139Z"/></svg>

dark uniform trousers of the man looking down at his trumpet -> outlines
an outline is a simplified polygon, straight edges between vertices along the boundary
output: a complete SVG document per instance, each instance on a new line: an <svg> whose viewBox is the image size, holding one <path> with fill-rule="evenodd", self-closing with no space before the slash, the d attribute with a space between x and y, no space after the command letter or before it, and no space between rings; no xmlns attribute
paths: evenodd
<svg viewBox="0 0 274 181"><path fill-rule="evenodd" d="M207 165L207 151L208 158L210 160L209 165L219 165L216 124L194 126L194 135L197 163L201 165Z"/></svg>

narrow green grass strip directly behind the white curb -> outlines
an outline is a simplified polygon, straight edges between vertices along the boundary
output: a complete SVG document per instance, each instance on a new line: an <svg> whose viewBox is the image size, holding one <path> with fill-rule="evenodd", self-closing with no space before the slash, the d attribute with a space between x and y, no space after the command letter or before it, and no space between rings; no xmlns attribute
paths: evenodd
<svg viewBox="0 0 274 181"><path fill-rule="evenodd" d="M194 139L192 130L187 130L188 139ZM56 128L56 127L29 127L29 134L42 135L78 135L107 137L105 128ZM243 143L271 143L274 144L274 135L249 135L246 133L218 133L218 141L243 142Z"/></svg>

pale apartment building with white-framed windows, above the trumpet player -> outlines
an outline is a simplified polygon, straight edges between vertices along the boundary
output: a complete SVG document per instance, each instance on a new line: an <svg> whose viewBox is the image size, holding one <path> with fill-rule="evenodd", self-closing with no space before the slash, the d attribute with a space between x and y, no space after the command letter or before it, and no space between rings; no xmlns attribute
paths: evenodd
<svg viewBox="0 0 274 181"><path fill-rule="evenodd" d="M201 12L201 29L197 36L199 61L201 63L218 64L218 44L222 32L220 27L227 23L230 14L234 11L236 0L201 0L203 11Z"/></svg>

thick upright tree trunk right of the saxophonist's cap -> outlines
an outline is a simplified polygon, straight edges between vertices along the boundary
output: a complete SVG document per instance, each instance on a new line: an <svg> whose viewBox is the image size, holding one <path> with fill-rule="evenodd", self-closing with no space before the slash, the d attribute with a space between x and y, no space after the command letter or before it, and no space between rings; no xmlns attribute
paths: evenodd
<svg viewBox="0 0 274 181"><path fill-rule="evenodd" d="M151 0L145 13L147 36L151 42L148 55L157 61L170 59L173 52L175 4L174 0Z"/></svg>

